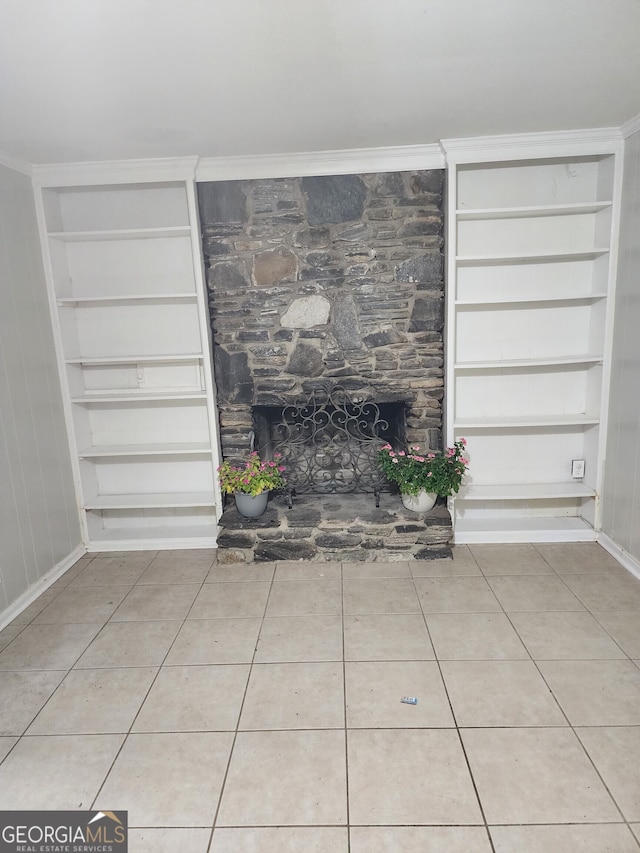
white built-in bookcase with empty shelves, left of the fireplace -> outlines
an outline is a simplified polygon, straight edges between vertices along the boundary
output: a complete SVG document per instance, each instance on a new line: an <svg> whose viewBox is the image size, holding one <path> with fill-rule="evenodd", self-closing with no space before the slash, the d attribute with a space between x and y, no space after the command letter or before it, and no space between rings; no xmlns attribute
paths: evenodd
<svg viewBox="0 0 640 853"><path fill-rule="evenodd" d="M212 547L218 443L193 168L35 171L85 544Z"/></svg>

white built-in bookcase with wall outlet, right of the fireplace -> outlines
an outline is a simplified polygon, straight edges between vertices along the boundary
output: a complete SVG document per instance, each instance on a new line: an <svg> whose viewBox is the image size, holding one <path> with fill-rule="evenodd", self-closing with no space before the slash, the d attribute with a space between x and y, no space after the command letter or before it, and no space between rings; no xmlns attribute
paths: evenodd
<svg viewBox="0 0 640 853"><path fill-rule="evenodd" d="M470 458L451 501L460 543L600 527L619 142L530 143L443 143L447 440L464 436Z"/></svg>

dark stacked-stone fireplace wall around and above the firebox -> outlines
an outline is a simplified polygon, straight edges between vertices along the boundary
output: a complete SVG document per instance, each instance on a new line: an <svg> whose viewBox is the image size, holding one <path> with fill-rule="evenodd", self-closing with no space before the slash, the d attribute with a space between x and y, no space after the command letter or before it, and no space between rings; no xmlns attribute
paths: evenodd
<svg viewBox="0 0 640 853"><path fill-rule="evenodd" d="M441 446L443 183L430 170L198 185L224 458L264 441L265 412L327 383L399 407L407 442Z"/></svg>

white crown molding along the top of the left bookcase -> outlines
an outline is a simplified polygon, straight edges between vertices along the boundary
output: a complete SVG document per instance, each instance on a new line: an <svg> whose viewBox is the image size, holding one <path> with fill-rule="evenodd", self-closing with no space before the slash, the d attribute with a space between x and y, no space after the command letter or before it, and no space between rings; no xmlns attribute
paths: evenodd
<svg viewBox="0 0 640 853"><path fill-rule="evenodd" d="M34 185L38 187L184 181L193 180L197 163L197 157L50 163L33 166L31 174Z"/></svg>

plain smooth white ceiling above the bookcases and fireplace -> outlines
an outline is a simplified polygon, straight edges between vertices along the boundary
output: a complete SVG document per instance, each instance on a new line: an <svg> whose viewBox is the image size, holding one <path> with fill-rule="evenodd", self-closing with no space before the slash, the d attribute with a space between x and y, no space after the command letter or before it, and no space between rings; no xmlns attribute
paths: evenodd
<svg viewBox="0 0 640 853"><path fill-rule="evenodd" d="M618 127L640 0L0 0L0 152L218 157Z"/></svg>

